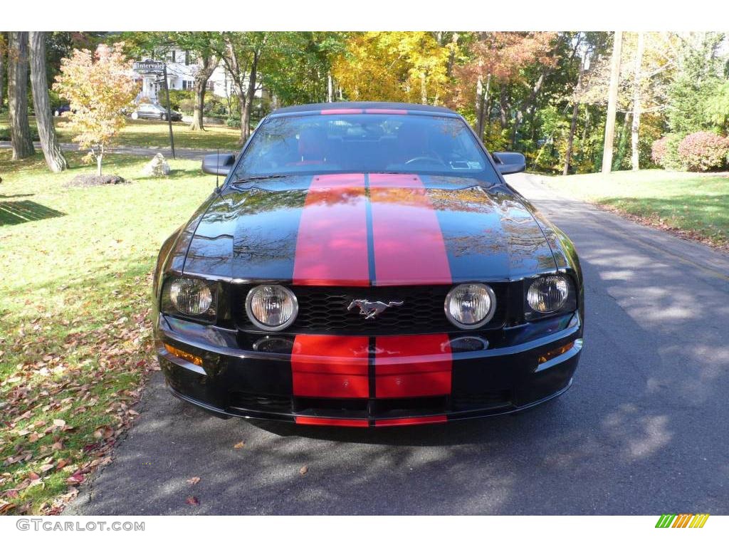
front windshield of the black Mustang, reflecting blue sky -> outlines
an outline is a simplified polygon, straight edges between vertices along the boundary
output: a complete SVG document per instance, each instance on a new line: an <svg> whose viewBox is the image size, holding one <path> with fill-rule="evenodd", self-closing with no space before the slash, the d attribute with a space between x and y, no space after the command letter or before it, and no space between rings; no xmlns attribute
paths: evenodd
<svg viewBox="0 0 729 547"><path fill-rule="evenodd" d="M380 114L270 118L257 129L233 179L332 172L469 176L498 182L463 120Z"/></svg>

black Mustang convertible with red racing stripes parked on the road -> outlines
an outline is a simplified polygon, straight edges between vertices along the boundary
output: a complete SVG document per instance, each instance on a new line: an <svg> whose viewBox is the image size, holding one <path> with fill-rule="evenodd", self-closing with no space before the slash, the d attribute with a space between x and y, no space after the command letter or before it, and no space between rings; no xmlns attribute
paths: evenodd
<svg viewBox="0 0 729 547"><path fill-rule="evenodd" d="M561 395L582 350L572 242L463 117L278 109L163 244L155 339L174 395L218 416L379 427Z"/></svg>

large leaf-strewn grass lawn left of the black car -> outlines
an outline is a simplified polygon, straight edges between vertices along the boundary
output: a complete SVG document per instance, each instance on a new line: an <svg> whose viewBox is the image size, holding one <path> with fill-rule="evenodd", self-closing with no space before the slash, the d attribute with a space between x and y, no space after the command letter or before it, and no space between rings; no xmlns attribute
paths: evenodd
<svg viewBox="0 0 729 547"><path fill-rule="evenodd" d="M214 189L198 161L109 155L130 185L67 188L42 155L0 150L0 514L55 513L109 460L155 368L149 302L163 240ZM69 491L70 489L70 491Z"/></svg>

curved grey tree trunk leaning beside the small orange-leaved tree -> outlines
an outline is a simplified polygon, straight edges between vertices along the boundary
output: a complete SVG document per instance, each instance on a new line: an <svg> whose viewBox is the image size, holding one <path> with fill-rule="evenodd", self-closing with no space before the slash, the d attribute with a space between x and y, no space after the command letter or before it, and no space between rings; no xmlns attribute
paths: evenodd
<svg viewBox="0 0 729 547"><path fill-rule="evenodd" d="M38 136L48 167L54 173L60 173L68 168L69 164L66 163L66 158L63 157L61 144L58 144L55 128L53 127L50 98L48 97L48 80L46 79L46 33L31 32L28 39L31 46L31 82Z"/></svg>

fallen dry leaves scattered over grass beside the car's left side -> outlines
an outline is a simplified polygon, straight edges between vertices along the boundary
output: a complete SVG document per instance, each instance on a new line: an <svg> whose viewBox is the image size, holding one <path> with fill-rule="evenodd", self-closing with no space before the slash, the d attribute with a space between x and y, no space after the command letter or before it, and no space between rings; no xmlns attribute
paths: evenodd
<svg viewBox="0 0 729 547"><path fill-rule="evenodd" d="M110 451L139 416L130 406L142 382L158 370L144 290L150 282L125 283L135 297L114 301L106 327L85 330L98 317L67 320L42 310L2 338L23 360L0 381L0 513L27 513L28 499L39 504L34 513L61 513L75 487L111 462ZM91 304L82 309L95 313ZM45 335L51 325L66 335ZM50 482L59 476L65 492Z"/></svg>

